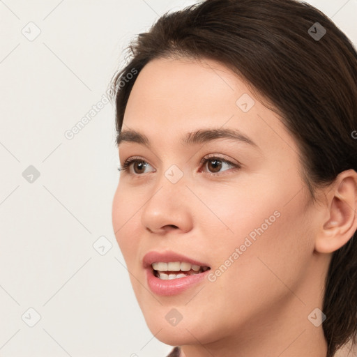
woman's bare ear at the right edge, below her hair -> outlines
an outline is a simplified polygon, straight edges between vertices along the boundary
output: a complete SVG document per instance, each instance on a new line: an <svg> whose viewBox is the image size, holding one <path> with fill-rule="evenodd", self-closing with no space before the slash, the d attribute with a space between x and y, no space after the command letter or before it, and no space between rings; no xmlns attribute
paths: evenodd
<svg viewBox="0 0 357 357"><path fill-rule="evenodd" d="M326 194L326 217L315 239L315 250L332 253L352 238L357 229L357 172L341 172Z"/></svg>

